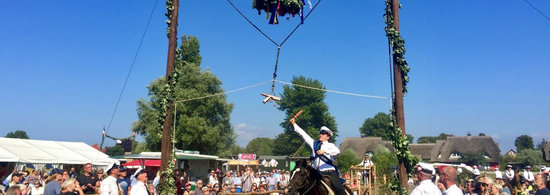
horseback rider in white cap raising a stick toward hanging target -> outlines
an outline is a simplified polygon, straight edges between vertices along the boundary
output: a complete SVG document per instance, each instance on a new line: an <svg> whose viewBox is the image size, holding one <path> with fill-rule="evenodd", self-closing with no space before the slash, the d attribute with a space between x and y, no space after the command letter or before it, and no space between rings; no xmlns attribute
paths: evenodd
<svg viewBox="0 0 550 195"><path fill-rule="evenodd" d="M334 155L340 154L340 149L333 143L328 142L328 139L333 136L331 129L324 126L321 127L319 130L319 140L313 140L294 120L295 118L290 118L290 124L294 126L294 131L304 138L307 145L313 151L313 161L311 163L313 168L319 170L323 175L331 176L331 186L337 195L346 195L342 181L339 179L338 171L332 164Z"/></svg>

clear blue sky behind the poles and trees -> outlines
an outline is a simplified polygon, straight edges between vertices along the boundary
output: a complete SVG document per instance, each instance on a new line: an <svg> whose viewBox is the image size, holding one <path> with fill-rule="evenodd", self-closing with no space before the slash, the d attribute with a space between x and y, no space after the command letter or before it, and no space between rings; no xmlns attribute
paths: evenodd
<svg viewBox="0 0 550 195"><path fill-rule="evenodd" d="M0 0L0 6L13 0ZM312 1L315 3L316 1ZM550 14L550 1L531 0ZM281 42L299 18L268 25L250 1L234 1ZM493 136L504 153L515 137L550 138L550 21L524 1L401 1L401 35L411 67L406 132ZM101 142L155 1L31 1L0 8L0 129L31 139ZM329 90L389 96L383 1L322 1L282 46L278 80L319 79ZM306 8L306 11L309 9ZM109 130L131 135L136 100L166 72L168 39L159 1ZM277 47L226 1L182 1L178 34L201 43L202 67L226 90L271 80ZM276 92L282 92L282 85ZM231 122L246 145L273 138L284 113L262 104L266 85L228 95ZM342 142L389 101L328 93ZM416 139L415 139L416 140ZM113 145L113 141L106 145Z"/></svg>

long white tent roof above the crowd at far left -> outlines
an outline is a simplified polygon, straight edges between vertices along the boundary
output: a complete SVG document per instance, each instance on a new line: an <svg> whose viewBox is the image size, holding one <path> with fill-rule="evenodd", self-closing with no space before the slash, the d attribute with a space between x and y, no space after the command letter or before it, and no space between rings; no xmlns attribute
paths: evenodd
<svg viewBox="0 0 550 195"><path fill-rule="evenodd" d="M4 162L94 165L109 165L113 161L119 163L83 142L0 138L0 154L0 161Z"/></svg>

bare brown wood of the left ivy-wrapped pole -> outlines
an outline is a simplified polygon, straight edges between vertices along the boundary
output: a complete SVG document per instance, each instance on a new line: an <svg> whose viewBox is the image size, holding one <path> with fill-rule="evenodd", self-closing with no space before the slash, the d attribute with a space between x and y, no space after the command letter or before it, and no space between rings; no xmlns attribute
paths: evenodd
<svg viewBox="0 0 550 195"><path fill-rule="evenodd" d="M178 10L179 0L172 0L174 9L170 17L170 36L168 37L168 59L166 62L166 83L168 83L168 75L172 73L174 69L174 57L176 40L178 36ZM161 172L168 168L168 163L172 160L171 140L172 140L172 100L168 100L168 110L166 110L166 117L164 117L164 123L162 124L162 141L161 141ZM160 182L164 180L160 178Z"/></svg>

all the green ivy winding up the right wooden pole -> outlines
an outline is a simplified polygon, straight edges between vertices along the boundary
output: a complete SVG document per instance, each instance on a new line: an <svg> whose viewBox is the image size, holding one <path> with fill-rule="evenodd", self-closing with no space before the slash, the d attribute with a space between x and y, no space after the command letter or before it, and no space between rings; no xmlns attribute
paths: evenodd
<svg viewBox="0 0 550 195"><path fill-rule="evenodd" d="M401 4L399 4L399 8L401 8ZM384 14L384 19L386 22L386 27L384 28L384 30L386 30L386 36L388 37L390 44L392 44L393 55L395 55L397 59L397 62L394 63L397 63L397 66L401 71L401 79L403 80L403 94L406 94L406 84L409 82L409 76L407 75L407 73L409 73L410 68L404 57L405 40L403 40L403 38L399 34L399 31L396 29L393 20L392 0L386 0L386 14ZM418 163L418 159L416 158L416 156L411 155L409 150L409 141L407 140L406 136L401 136L401 128L399 127L399 125L397 124L397 120L395 119L395 96L393 95L392 101L393 107L392 110L390 110L392 114L391 123L393 126L392 131L390 132L392 146L395 149L395 154L397 155L398 161L402 162L405 165L407 175L409 177L413 177L414 166ZM392 189L393 192L397 194L407 194L406 188L401 186L399 175L397 177L394 177L391 183L387 183L387 185L390 189Z"/></svg>

